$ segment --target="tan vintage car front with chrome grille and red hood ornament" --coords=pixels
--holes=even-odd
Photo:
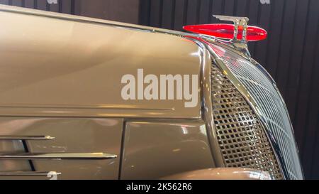
[[[248,18],[178,32],[0,6],[0,178],[302,179]]]

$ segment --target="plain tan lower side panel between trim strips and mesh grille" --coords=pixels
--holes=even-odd
[[[157,179],[213,166],[201,121],[126,123],[121,179]]]

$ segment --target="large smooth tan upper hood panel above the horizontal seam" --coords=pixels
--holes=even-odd
[[[184,99],[121,97],[122,76],[137,76],[138,68],[157,77],[199,75],[191,41],[35,12],[0,7],[0,115],[200,117],[199,102],[186,109]]]

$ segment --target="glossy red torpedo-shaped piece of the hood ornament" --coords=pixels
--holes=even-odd
[[[211,23],[183,26],[185,31],[201,33],[218,38],[233,39],[235,26],[228,23]],[[237,39],[242,39],[242,26],[238,26]],[[247,41],[262,41],[267,38],[267,31],[256,26],[247,26]]]

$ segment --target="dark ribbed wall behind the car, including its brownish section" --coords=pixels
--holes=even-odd
[[[318,0],[0,0],[25,6],[182,30],[186,24],[220,23],[213,14],[247,16],[269,33],[249,43],[252,56],[270,72],[286,100],[306,178],[319,179]]]

